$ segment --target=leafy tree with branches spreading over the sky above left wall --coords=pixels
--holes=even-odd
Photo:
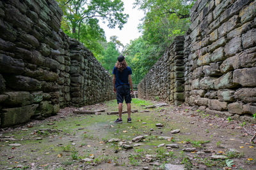
[[[99,25],[103,18],[108,21],[109,28],[116,25],[122,29],[129,17],[124,14],[124,3],[121,0],[57,0],[63,10],[63,29],[73,38],[80,39],[81,26]],[[93,22],[92,22],[92,19]]]

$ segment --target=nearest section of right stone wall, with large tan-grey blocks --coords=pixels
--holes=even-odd
[[[206,113],[253,121],[252,115],[256,113],[255,9],[253,0],[196,1],[184,41],[186,104],[196,105]]]

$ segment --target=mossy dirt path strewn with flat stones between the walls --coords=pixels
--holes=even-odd
[[[0,169],[256,169],[256,146],[241,122],[188,106],[145,108],[153,104],[134,99],[132,110],[138,112],[131,124],[127,114],[123,124],[113,123],[117,116],[106,113],[117,104],[109,101],[81,108],[105,110],[101,115],[74,115],[77,108],[65,108],[42,121],[1,129]],[[172,134],[175,129],[180,132]],[[144,139],[132,142],[136,136]],[[113,138],[118,141],[109,142]]]

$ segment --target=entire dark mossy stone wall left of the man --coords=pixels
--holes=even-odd
[[[111,76],[61,29],[53,0],[0,1],[0,127],[113,99]]]

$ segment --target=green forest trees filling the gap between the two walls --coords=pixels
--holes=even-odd
[[[143,23],[138,25],[142,36],[124,46],[117,36],[111,36],[108,42],[99,24],[101,19],[109,28],[122,29],[129,17],[122,0],[57,0],[64,13],[61,29],[83,43],[110,74],[117,57],[125,55],[135,84],[140,83],[173,38],[188,31],[189,10],[195,1],[136,0],[134,8],[145,13]]]

